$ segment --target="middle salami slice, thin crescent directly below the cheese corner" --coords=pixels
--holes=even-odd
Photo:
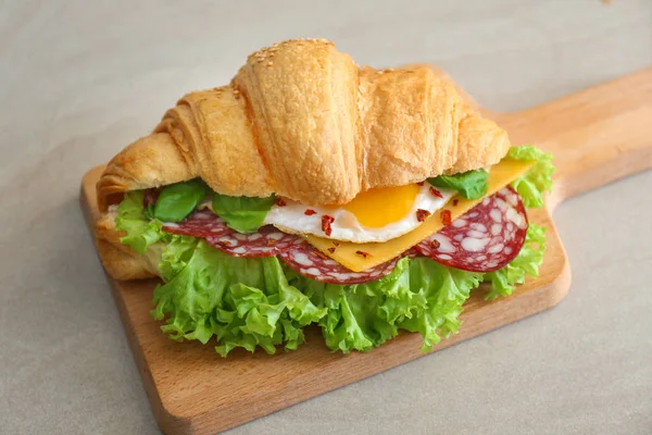
[[[297,273],[308,278],[328,284],[362,284],[389,275],[401,257],[363,272],[353,272],[329,259],[312,245],[302,243],[280,252],[280,258]]]

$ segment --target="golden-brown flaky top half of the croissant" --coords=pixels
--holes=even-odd
[[[201,177],[225,195],[342,204],[492,165],[510,146],[428,66],[359,67],[329,41],[289,40],[251,54],[228,86],[181,98],[109,162],[98,203]]]

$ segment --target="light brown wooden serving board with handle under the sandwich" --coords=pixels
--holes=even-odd
[[[529,212],[549,227],[541,274],[509,298],[482,300],[474,291],[459,334],[441,350],[546,310],[564,298],[570,271],[551,219],[563,199],[652,166],[652,69],[518,113],[482,112],[514,144],[554,153],[557,169],[548,210]],[[92,232],[99,217],[95,184],[101,166],[82,184],[82,204]],[[155,279],[109,279],[152,409],[166,434],[212,434],[423,357],[418,334],[401,334],[368,353],[331,353],[317,328],[297,351],[275,356],[238,349],[221,358],[213,346],[175,343],[149,314]]]

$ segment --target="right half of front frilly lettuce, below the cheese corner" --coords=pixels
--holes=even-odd
[[[292,271],[290,282],[328,312],[319,321],[326,345],[344,353],[368,351],[399,330],[418,332],[427,351],[457,332],[462,304],[482,274],[443,266],[428,258],[401,259],[388,276],[358,285],[318,283]]]

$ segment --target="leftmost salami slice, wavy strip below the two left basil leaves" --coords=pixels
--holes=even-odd
[[[165,223],[163,229],[185,236],[202,237],[213,248],[231,257],[273,257],[303,243],[293,234],[263,226],[255,233],[238,233],[210,210],[195,211],[179,223]]]

